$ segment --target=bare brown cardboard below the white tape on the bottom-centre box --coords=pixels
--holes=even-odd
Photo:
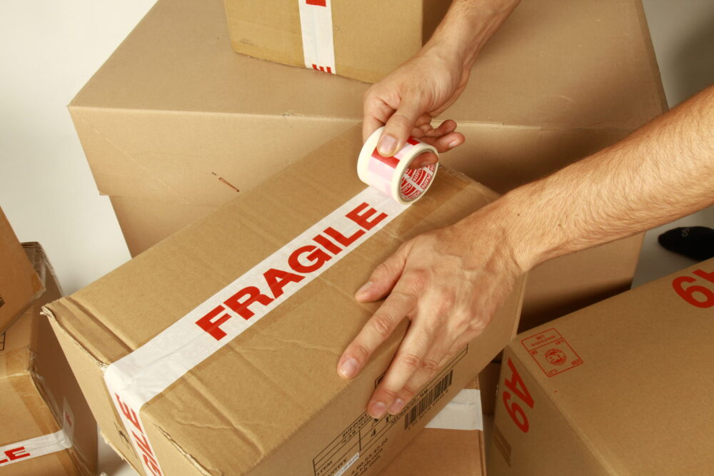
[[[478,381],[466,388],[478,389]],[[424,428],[379,474],[486,476],[483,430]]]

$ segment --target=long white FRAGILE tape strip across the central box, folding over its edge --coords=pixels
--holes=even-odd
[[[146,434],[141,407],[407,208],[374,188],[365,188],[149,342],[106,368],[106,387],[147,474],[163,472]]]

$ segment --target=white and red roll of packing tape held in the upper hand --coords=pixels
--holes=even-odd
[[[377,141],[383,127],[372,133],[362,146],[357,160],[357,175],[368,186],[391,196],[406,205],[421,198],[436,176],[437,164],[422,168],[408,168],[411,161],[426,152],[438,157],[434,146],[410,137],[393,157],[382,157],[377,152]]]

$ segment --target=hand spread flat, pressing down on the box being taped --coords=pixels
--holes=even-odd
[[[487,207],[488,208],[488,207]],[[443,365],[483,332],[523,270],[503,230],[482,208],[464,220],[403,243],[378,265],[356,299],[386,297],[338,363],[353,378],[404,318],[411,320],[367,405],[375,418],[400,412]]]

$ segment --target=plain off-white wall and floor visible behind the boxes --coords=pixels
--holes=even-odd
[[[644,3],[668,101],[675,106],[714,82],[714,1]],[[44,245],[66,293],[129,259],[109,199],[94,186],[66,104],[152,4],[0,4],[0,206],[20,240]],[[682,223],[713,226],[714,208]],[[692,263],[661,250],[658,233],[645,238],[635,285]],[[104,470],[131,474],[106,457]]]

